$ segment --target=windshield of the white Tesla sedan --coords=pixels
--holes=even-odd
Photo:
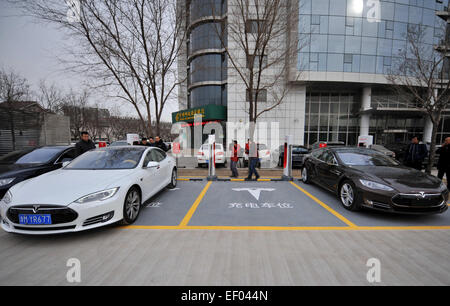
[[[133,169],[139,164],[144,150],[119,149],[89,151],[69,164],[65,169],[111,170]]]

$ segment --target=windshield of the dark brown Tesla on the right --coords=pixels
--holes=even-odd
[[[341,161],[348,166],[398,166],[399,163],[383,154],[374,152],[337,152]]]

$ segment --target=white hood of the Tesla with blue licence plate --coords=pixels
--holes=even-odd
[[[115,186],[132,170],[56,170],[13,186],[13,205],[69,205],[79,198]]]

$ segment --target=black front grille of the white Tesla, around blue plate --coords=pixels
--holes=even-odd
[[[35,205],[15,206],[8,209],[7,217],[11,222],[19,224],[19,215],[51,215],[53,224],[64,224],[73,222],[78,218],[78,214],[68,208],[56,205],[40,205],[35,211]]]

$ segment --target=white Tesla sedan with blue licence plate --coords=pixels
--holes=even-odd
[[[132,224],[142,203],[176,184],[175,160],[158,148],[97,149],[13,186],[0,201],[0,222],[7,232],[33,235]]]

